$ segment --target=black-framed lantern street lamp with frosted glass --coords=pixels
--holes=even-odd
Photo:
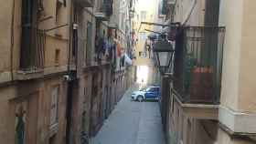
[[[155,64],[162,75],[167,73],[172,65],[174,52],[172,44],[167,40],[166,35],[162,34],[153,46]]]

